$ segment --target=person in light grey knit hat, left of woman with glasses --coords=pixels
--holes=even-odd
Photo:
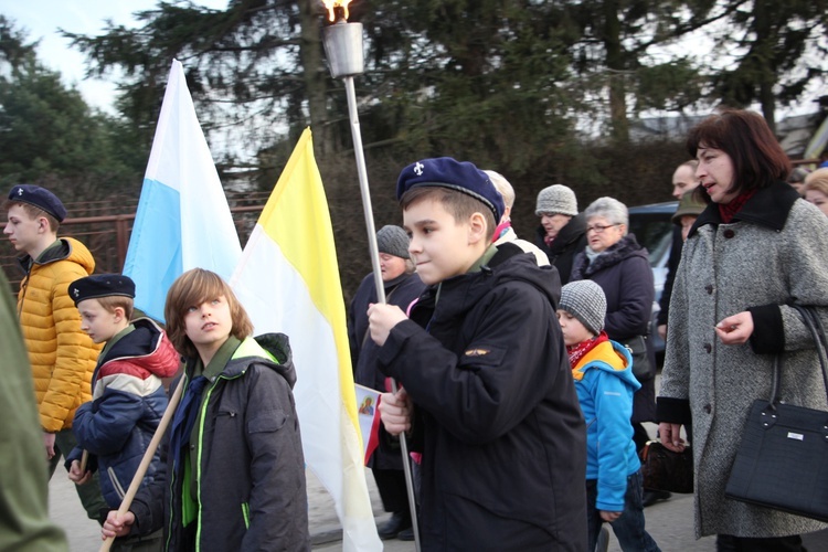
[[[558,268],[561,285],[566,285],[575,255],[586,247],[586,219],[577,213],[575,192],[563,184],[544,188],[538,194],[534,214],[541,217],[534,244]]]

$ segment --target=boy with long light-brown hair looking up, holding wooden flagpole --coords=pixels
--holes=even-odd
[[[172,284],[164,318],[185,385],[167,435],[167,481],[139,491],[124,517],[109,512],[104,537],[163,526],[167,550],[309,550],[287,337],[250,337],[230,286],[202,268]]]

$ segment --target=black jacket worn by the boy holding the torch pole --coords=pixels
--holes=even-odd
[[[560,296],[554,269],[499,246],[438,300],[426,289],[381,348],[416,405],[424,550],[586,549],[585,428]]]

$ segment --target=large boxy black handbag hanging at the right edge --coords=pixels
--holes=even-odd
[[[828,393],[825,331],[810,309],[795,306],[816,344]],[[828,521],[828,412],[778,401],[782,360],[774,364],[769,400],[756,400],[725,496],[797,516]]]

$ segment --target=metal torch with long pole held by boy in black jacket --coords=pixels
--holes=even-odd
[[[360,195],[362,195],[362,211],[365,215],[365,230],[368,232],[368,247],[371,255],[371,265],[374,270],[374,287],[376,288],[376,301],[385,302],[385,286],[382,282],[380,269],[380,251],[376,245],[376,230],[374,226],[373,210],[371,209],[371,190],[368,185],[368,170],[365,169],[365,155],[362,149],[362,134],[360,131],[359,110],[357,109],[357,93],[353,85],[353,75],[362,74],[364,71],[362,52],[362,23],[347,23],[340,19],[323,30],[325,51],[328,54],[330,72],[333,78],[342,77],[348,96],[348,114],[351,123],[351,137],[353,138],[353,155],[357,158],[357,173],[360,182]],[[391,390],[396,393],[396,381],[391,378]],[[403,456],[403,471],[405,473],[405,487],[408,491],[408,508],[411,510],[412,531],[414,532],[414,548],[420,552],[420,527],[417,523],[417,503],[414,497],[414,478],[411,473],[411,457],[408,455],[408,443],[405,432],[400,434],[400,453]]]

